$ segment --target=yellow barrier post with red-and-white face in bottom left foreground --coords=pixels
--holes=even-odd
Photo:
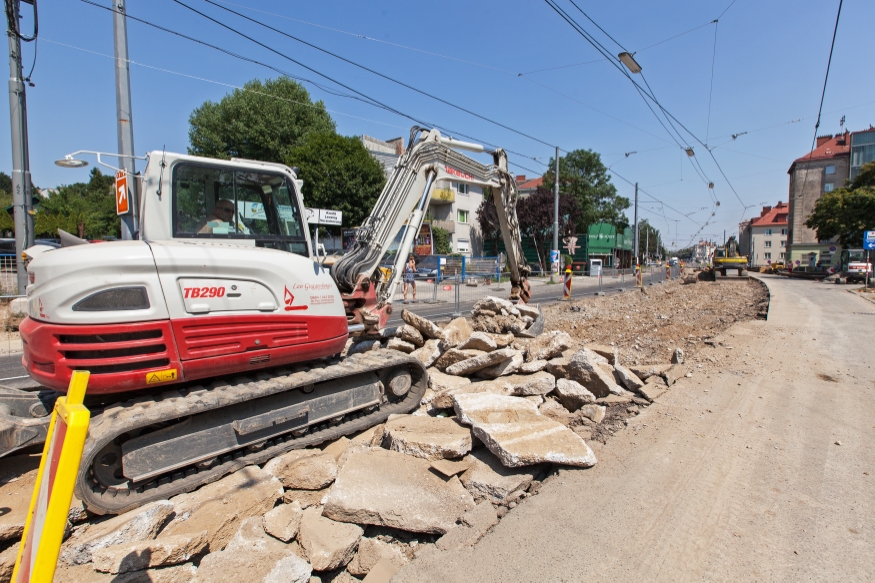
[[[50,583],[55,576],[91,419],[91,412],[82,404],[89,376],[88,371],[75,371],[67,395],[55,402],[12,572],[13,583]]]

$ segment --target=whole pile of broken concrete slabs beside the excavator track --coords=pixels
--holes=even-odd
[[[423,553],[476,543],[554,466],[594,465],[587,441],[685,374],[681,351],[674,364],[626,367],[616,348],[565,332],[519,337],[537,312],[498,298],[442,328],[402,316],[348,353],[420,359],[429,388],[417,411],[121,516],[89,523],[77,506],[57,580],[388,581]]]

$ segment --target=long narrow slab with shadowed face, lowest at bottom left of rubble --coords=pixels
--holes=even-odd
[[[207,542],[204,530],[98,548],[91,552],[91,558],[96,571],[113,574],[142,571],[188,562],[206,550]]]

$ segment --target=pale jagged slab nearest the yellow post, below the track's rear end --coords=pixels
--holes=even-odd
[[[174,503],[157,500],[106,522],[93,525],[83,535],[61,547],[59,560],[67,565],[90,563],[98,549],[129,542],[152,540],[174,511]]]

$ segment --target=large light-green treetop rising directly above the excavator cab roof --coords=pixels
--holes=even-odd
[[[189,117],[189,154],[284,163],[311,133],[333,133],[322,101],[288,77],[254,79],[218,103],[207,101]]]

